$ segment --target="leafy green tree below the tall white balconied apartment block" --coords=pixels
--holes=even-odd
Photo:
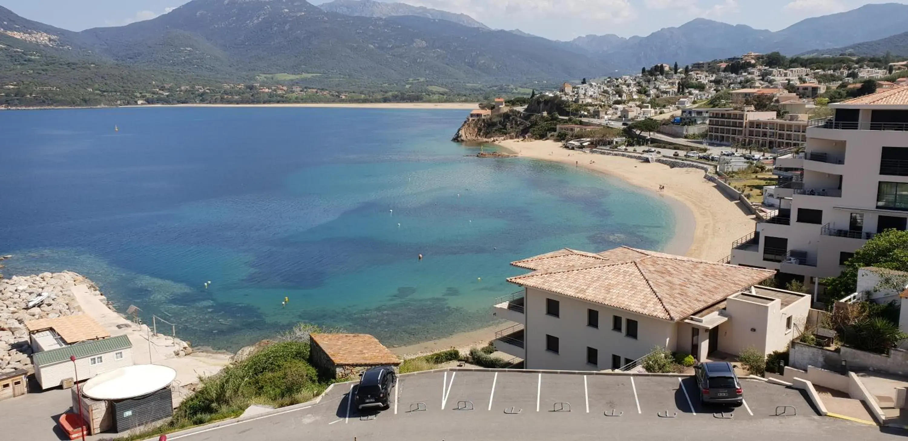
[[[857,273],[864,267],[908,271],[908,231],[885,230],[867,240],[854,256],[845,262],[838,277],[824,279],[826,294],[841,299],[857,289]]]

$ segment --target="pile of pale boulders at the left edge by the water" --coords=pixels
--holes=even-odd
[[[0,279],[0,373],[34,371],[25,322],[80,313],[71,290],[76,284],[85,284],[100,295],[91,280],[70,271]],[[42,296],[43,301],[29,308],[30,301]]]

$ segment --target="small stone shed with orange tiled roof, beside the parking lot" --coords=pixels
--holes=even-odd
[[[335,378],[357,377],[376,366],[397,370],[400,358],[369,334],[311,334],[309,361]]]

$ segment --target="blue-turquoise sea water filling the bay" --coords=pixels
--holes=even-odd
[[[15,257],[0,271],[82,273],[195,346],[298,322],[404,345],[493,323],[492,300],[518,290],[512,260],[660,250],[674,234],[673,211],[622,181],[470,156],[479,147],[449,141],[464,116],[2,112],[0,254]]]

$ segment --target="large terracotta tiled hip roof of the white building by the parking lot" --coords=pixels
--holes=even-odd
[[[590,254],[566,249],[518,260],[535,271],[508,281],[677,321],[775,273],[629,247]]]

